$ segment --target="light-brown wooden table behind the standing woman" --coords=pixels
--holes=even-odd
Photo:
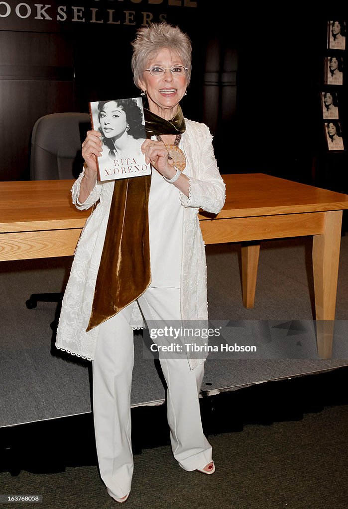
[[[220,214],[199,214],[206,244],[242,242],[243,303],[253,307],[264,239],[313,235],[318,352],[331,356],[341,238],[348,195],[264,174],[224,175]],[[71,204],[73,180],[0,183],[0,261],[70,256],[90,211]]]

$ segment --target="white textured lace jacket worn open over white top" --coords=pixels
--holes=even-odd
[[[182,266],[181,266],[181,316],[183,320],[208,318],[206,260],[204,242],[199,227],[199,208],[218,213],[225,202],[225,184],[219,174],[208,127],[185,119],[186,131],[181,147],[191,168],[190,194],[180,192],[184,209]],[[88,209],[100,202],[87,219],[76,246],[70,277],[65,290],[57,330],[56,346],[72,355],[93,360],[98,327],[86,332],[91,314],[96,277],[103,248],[106,225],[114,189],[114,181],[97,183],[83,204],[78,202],[79,186],[84,173],[74,183],[72,201],[78,209]],[[143,320],[137,302],[133,307],[132,327],[142,328]],[[204,342],[205,343],[205,342]],[[205,355],[201,355],[201,357]],[[202,359],[189,359],[192,369]]]

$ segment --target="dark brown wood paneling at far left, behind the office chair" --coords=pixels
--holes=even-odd
[[[0,47],[0,180],[26,180],[36,120],[73,111],[71,36],[0,32]]]

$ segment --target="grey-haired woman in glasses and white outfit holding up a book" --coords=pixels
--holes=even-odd
[[[100,133],[87,133],[72,198],[79,209],[99,204],[76,248],[57,332],[58,348],[93,361],[99,470],[118,502],[128,498],[133,471],[133,329],[143,318],[157,324],[207,320],[197,213],[200,207],[218,213],[225,200],[209,129],[185,119],[179,105],[191,77],[189,37],[158,23],[142,27],[132,46],[135,83],[146,95],[142,151],[152,175],[99,183]],[[211,474],[215,465],[198,400],[204,359],[159,359],[174,458],[186,471]]]

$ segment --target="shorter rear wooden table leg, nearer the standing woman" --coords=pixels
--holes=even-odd
[[[243,305],[248,309],[254,307],[259,252],[259,243],[242,244]]]

